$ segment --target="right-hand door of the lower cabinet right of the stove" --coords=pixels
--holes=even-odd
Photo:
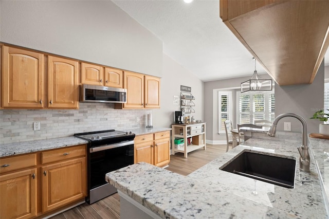
[[[168,165],[170,161],[169,139],[154,142],[154,165],[161,167]]]

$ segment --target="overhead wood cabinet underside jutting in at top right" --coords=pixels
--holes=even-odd
[[[329,45],[329,1],[220,0],[220,17],[279,85],[312,83]]]

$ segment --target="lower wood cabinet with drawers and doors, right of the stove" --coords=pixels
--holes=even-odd
[[[134,163],[167,166],[170,162],[170,131],[136,136],[134,151]]]

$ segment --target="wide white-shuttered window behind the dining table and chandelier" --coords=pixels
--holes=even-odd
[[[241,94],[237,92],[237,124],[254,123],[255,120],[275,118],[274,91],[260,94]]]

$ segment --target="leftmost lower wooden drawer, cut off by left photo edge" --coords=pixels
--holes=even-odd
[[[36,166],[36,153],[0,159],[0,173]]]

